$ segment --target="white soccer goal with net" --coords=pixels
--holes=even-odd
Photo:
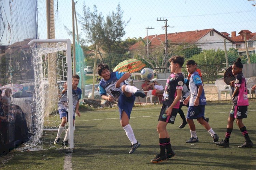
[[[68,86],[69,148],[72,149],[74,131],[70,39],[34,39],[28,44],[33,55],[34,94],[30,138],[24,143],[23,150],[63,148],[61,145],[55,146],[54,140],[60,124],[58,102],[64,82]],[[61,139],[64,136],[62,134]]]

